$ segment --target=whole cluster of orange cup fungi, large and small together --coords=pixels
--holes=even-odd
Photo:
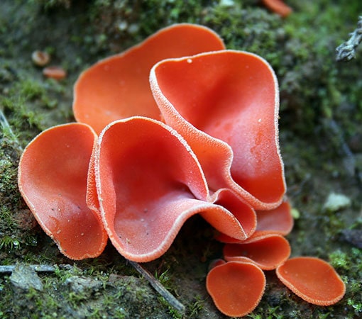
[[[225,243],[207,276],[222,313],[256,308],[271,269],[310,303],[342,298],[329,264],[289,259],[278,82],[268,62],[226,50],[209,28],[177,24],[97,62],[74,94],[77,123],[40,133],[18,169],[23,198],[65,256],[97,257],[109,239],[127,259],[149,262],[199,214]]]

